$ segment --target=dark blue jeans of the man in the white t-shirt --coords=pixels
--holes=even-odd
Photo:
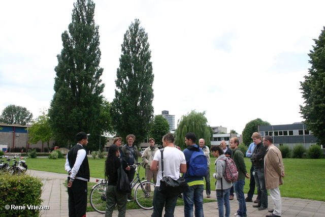
[[[165,217],[174,217],[175,206],[177,202],[178,195],[169,196],[161,194],[159,192],[159,187],[154,188],[153,195],[153,212],[151,217],[161,217],[163,215],[163,209],[165,205]]]

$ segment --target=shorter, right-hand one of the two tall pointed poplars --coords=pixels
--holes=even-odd
[[[148,34],[138,19],[124,34],[120,65],[115,80],[112,102],[113,128],[123,140],[128,134],[136,136],[135,144],[143,142],[149,133],[153,116],[153,74]]]

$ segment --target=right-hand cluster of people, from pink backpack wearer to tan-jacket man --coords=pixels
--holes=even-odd
[[[246,171],[244,161],[245,152],[238,147],[239,139],[235,137],[230,140],[229,146],[232,149],[231,158],[235,162],[238,171],[238,179],[234,183],[226,181],[223,177],[226,169],[225,161],[221,160],[226,159],[226,153],[222,147],[224,141],[221,141],[220,146],[213,146],[211,148],[212,155],[217,158],[215,161],[216,173],[213,174],[213,177],[217,179],[216,192],[220,217],[230,216],[229,200],[231,198],[230,192],[233,187],[239,203],[239,208],[235,215],[237,217],[246,217],[246,202],[252,202],[255,185],[257,189],[257,199],[254,202],[257,204],[253,205],[253,207],[258,210],[268,209],[267,190],[269,190],[274,202],[274,208],[268,210],[271,214],[266,216],[281,216],[281,194],[279,185],[283,184],[282,177],[285,177],[281,151],[273,144],[273,138],[271,136],[265,136],[262,139],[262,136],[255,132],[251,138],[253,139],[253,143],[250,144],[246,152],[246,156],[250,158],[252,163],[250,174]],[[246,198],[244,197],[245,177],[250,178],[249,192]],[[225,213],[223,206],[225,208]]]

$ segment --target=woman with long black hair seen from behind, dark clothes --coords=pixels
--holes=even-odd
[[[108,178],[106,190],[106,217],[111,217],[115,206],[117,205],[118,217],[124,217],[126,212],[127,193],[120,193],[116,190],[117,170],[121,166],[119,158],[119,148],[113,144],[110,146],[105,161],[105,177]],[[122,166],[126,173],[130,170],[125,159],[122,159]]]

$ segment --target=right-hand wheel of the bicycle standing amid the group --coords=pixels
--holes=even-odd
[[[156,185],[151,181],[142,181],[134,191],[137,204],[143,209],[152,209],[153,192]]]

